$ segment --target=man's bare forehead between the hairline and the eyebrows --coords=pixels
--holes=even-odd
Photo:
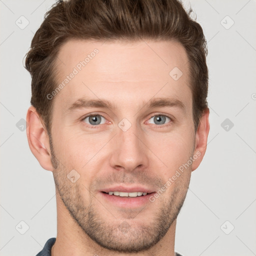
[[[56,101],[64,105],[85,95],[122,104],[156,94],[175,95],[184,101],[191,97],[187,54],[174,40],[72,39],[61,46],[56,67],[57,80],[64,85]]]

